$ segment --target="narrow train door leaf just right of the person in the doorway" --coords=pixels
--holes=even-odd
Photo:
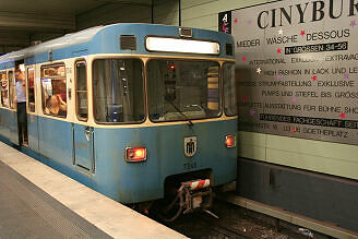
[[[35,67],[26,67],[26,82],[27,82],[27,133],[28,133],[28,147],[39,151],[38,147],[38,117],[36,116],[35,104]]]

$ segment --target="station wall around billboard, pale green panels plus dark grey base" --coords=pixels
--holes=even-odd
[[[181,0],[181,25],[217,31],[219,12],[267,2]],[[239,131],[237,192],[358,231],[357,154],[355,145]]]

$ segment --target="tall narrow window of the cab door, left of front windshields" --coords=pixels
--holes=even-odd
[[[77,61],[75,63],[75,93],[76,93],[76,113],[79,120],[87,121],[88,104],[87,104],[87,74],[86,62]]]

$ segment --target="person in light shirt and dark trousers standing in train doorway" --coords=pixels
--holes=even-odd
[[[19,143],[20,145],[22,144],[27,145],[26,82],[25,82],[25,74],[20,69],[16,69],[15,80],[16,80]]]

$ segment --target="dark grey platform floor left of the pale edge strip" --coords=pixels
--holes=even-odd
[[[0,238],[110,238],[0,162]]]

